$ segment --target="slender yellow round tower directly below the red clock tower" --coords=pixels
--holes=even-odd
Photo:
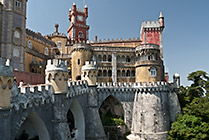
[[[82,66],[86,61],[92,60],[91,46],[85,43],[74,44],[71,57],[72,81],[81,80]]]

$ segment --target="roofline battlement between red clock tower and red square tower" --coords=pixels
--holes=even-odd
[[[95,39],[95,41],[91,40],[90,43],[121,43],[121,42],[122,43],[129,43],[129,42],[139,42],[139,41],[141,41],[139,37],[137,37],[137,38],[134,37],[134,38],[129,38],[129,39],[127,39],[127,38],[109,39],[108,38],[107,40],[106,39],[103,39],[103,40],[99,39],[99,41],[97,41],[97,39]]]

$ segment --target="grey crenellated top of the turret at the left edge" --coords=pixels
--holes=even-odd
[[[13,77],[12,61],[0,58],[0,75]]]

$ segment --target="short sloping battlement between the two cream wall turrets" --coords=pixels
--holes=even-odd
[[[87,94],[89,92],[87,81],[71,81],[68,82],[68,93],[66,96],[68,98],[76,97],[82,94]]]

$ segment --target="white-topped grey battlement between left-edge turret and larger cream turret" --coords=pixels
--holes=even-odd
[[[54,103],[53,88],[51,85],[24,86],[12,89],[11,107],[15,110],[37,107]]]

